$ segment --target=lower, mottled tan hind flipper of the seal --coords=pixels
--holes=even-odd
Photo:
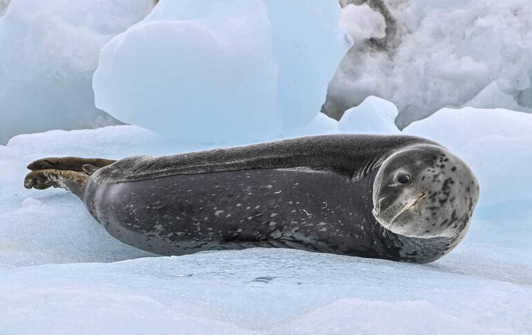
[[[81,196],[82,187],[87,183],[88,175],[84,172],[45,169],[26,174],[24,187],[46,190],[48,187],[60,187]]]

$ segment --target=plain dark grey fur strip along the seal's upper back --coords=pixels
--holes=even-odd
[[[178,174],[289,167],[309,167],[357,179],[378,169],[393,152],[421,143],[439,145],[415,136],[307,136],[169,156],[133,156],[98,170],[91,179],[123,183]]]

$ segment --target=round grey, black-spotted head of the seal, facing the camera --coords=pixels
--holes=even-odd
[[[462,159],[437,145],[413,145],[383,161],[372,213],[395,234],[457,238],[465,234],[478,196],[477,178]]]

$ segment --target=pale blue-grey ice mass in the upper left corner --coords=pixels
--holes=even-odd
[[[0,143],[15,134],[117,123],[94,105],[99,50],[151,6],[151,0],[12,0],[0,19]]]

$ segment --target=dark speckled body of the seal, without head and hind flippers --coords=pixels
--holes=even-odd
[[[372,214],[381,163],[410,136],[312,136],[245,147],[137,156],[97,170],[80,195],[120,241],[156,254],[294,247],[433,261],[455,238],[394,234]]]

